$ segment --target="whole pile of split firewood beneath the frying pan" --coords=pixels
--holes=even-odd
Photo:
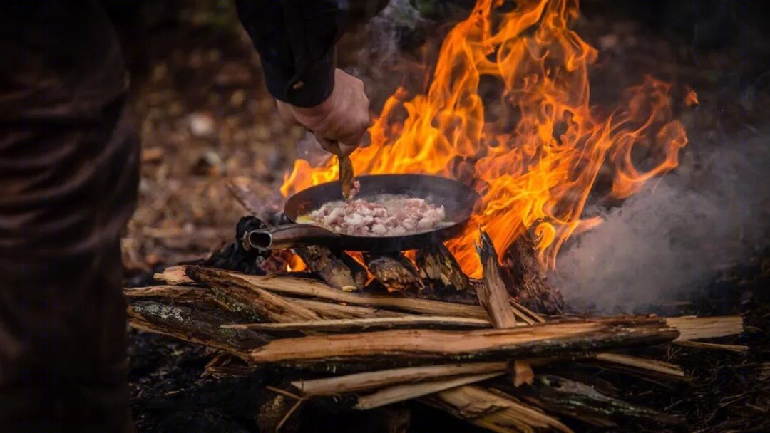
[[[534,308],[552,311],[559,297],[545,293],[526,270],[514,275],[500,267],[483,233],[477,250],[484,265],[480,280],[467,278],[443,245],[418,251],[417,265],[403,255],[365,256],[360,263],[311,247],[297,253],[313,274],[246,275],[182,265],[156,275],[162,285],[125,293],[133,327],[219,351],[210,375],[282,371],[283,385],[264,390],[260,431],[292,431],[310,402],[376,409],[371,413],[380,417],[384,410],[390,415],[383,422],[397,422],[403,409],[389,405],[419,401],[498,432],[569,432],[575,421],[675,425],[680,418],[604,394],[566,373],[571,365],[588,364],[688,381],[677,365],[639,351],[660,345],[742,350],[695,341],[741,333],[738,316],[538,314]],[[510,256],[507,251],[504,264],[525,262]],[[367,270],[381,290],[367,288]]]

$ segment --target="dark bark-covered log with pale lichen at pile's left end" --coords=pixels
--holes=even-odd
[[[134,301],[129,306],[129,325],[133,328],[218,348],[247,359],[244,348],[261,345],[269,338],[254,331],[220,328],[234,320],[226,311],[209,308],[163,305],[156,301]]]

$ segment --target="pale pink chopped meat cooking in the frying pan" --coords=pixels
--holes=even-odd
[[[444,222],[444,206],[405,195],[330,202],[301,219],[355,236],[398,236],[430,231]]]

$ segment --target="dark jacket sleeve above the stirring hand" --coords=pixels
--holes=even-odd
[[[299,107],[318,105],[334,87],[334,45],[343,33],[343,0],[236,0],[240,21],[262,62],[267,90]]]

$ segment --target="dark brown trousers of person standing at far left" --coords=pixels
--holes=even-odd
[[[133,431],[119,237],[139,145],[88,0],[0,5],[0,431]]]

